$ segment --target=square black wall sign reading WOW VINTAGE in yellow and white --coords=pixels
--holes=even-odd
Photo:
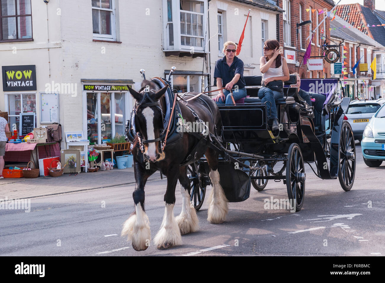
[[[36,90],[35,65],[2,66],[3,91]]]

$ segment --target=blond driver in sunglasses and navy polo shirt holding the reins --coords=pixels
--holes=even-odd
[[[223,44],[224,56],[215,64],[214,79],[216,79],[219,94],[214,98],[217,104],[232,104],[230,90],[233,90],[234,100],[246,97],[245,81],[243,78],[243,62],[235,56],[236,46],[232,41]]]

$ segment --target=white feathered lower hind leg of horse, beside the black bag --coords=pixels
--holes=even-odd
[[[219,172],[218,169],[213,171],[210,169],[210,179],[213,184],[209,196],[209,209],[207,220],[210,223],[219,224],[226,220],[226,214],[228,211],[228,200],[224,194],[221,184],[219,184]]]

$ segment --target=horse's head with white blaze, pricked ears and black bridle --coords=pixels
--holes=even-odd
[[[159,90],[157,85],[143,80],[141,89],[136,92],[129,88],[137,100],[135,128],[145,159],[155,162],[162,154],[163,111],[159,99],[164,95],[168,85]]]

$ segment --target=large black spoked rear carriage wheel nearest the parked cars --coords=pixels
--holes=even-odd
[[[356,146],[352,127],[348,121],[343,121],[340,135],[340,162],[338,164],[338,179],[344,191],[350,191],[356,172]]]

